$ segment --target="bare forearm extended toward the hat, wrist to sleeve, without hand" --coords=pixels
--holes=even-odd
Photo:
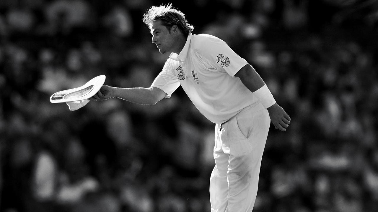
[[[137,104],[156,104],[160,100],[155,97],[152,88],[111,88],[113,97]]]

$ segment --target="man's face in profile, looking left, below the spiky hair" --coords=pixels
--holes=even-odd
[[[172,28],[171,28],[172,29]],[[166,26],[162,25],[161,20],[153,22],[151,27],[152,43],[156,44],[161,54],[166,52],[172,52],[174,46],[174,35],[170,33],[170,30]]]

